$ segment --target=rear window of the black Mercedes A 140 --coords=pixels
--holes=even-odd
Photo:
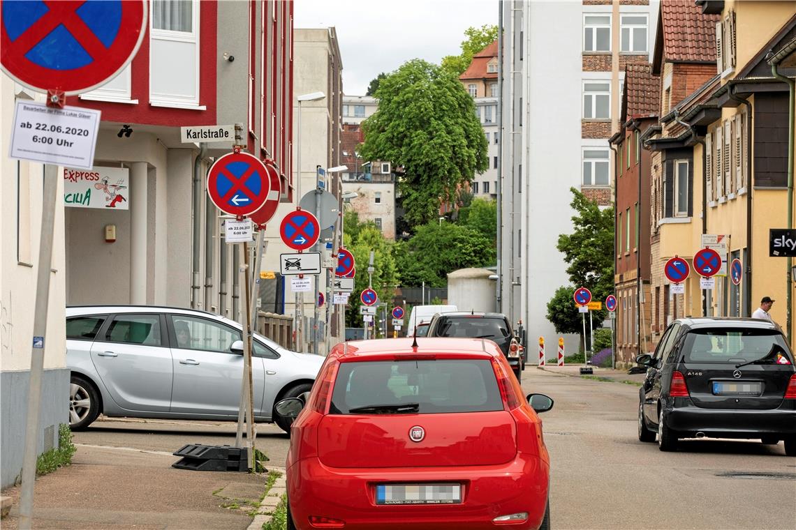
[[[738,362],[755,361],[771,353],[777,353],[793,362],[785,338],[775,330],[707,328],[689,331],[683,343],[685,362]]]

